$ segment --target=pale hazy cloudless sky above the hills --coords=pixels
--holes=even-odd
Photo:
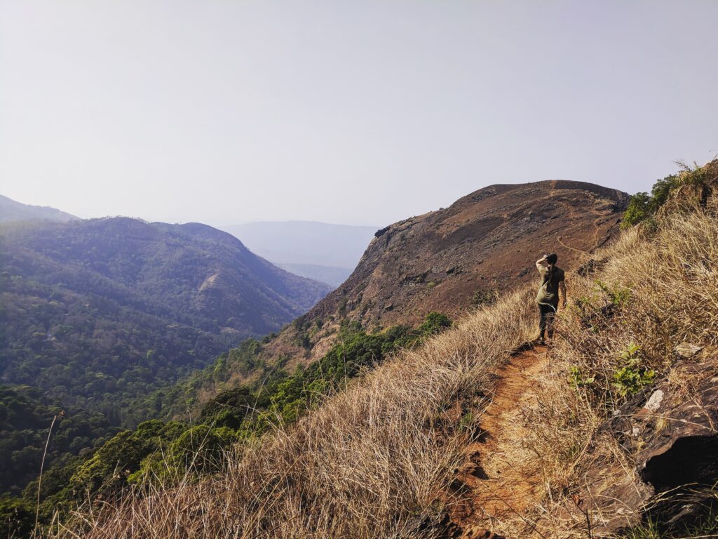
[[[0,193],[384,225],[718,152],[718,0],[0,0]]]

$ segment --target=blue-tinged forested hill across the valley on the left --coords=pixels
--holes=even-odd
[[[131,218],[4,224],[0,279],[0,382],[126,425],[134,397],[327,293],[210,226]]]

